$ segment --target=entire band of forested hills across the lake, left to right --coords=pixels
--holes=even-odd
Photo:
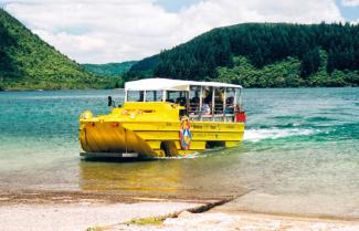
[[[140,62],[80,65],[0,9],[0,90],[104,88],[152,76],[245,87],[359,86],[359,25],[245,23]]]

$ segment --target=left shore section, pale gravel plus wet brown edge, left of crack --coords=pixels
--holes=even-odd
[[[0,191],[0,230],[86,230],[136,218],[168,216],[202,204],[194,200],[171,201],[105,192]]]

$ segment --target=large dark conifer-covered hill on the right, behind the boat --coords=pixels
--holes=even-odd
[[[359,25],[245,23],[218,28],[136,63],[127,80],[171,76],[246,87],[358,86]]]

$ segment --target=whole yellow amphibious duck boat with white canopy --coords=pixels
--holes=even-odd
[[[84,157],[184,156],[243,138],[241,86],[217,82],[147,78],[125,84],[123,106],[80,117]]]

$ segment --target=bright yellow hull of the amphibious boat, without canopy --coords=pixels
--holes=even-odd
[[[134,117],[122,112],[116,108],[107,116],[81,119],[80,141],[87,157],[98,153],[137,154],[140,158],[181,156],[203,151],[213,144],[233,147],[243,139],[244,123],[191,122],[192,139],[184,150],[178,117]]]

